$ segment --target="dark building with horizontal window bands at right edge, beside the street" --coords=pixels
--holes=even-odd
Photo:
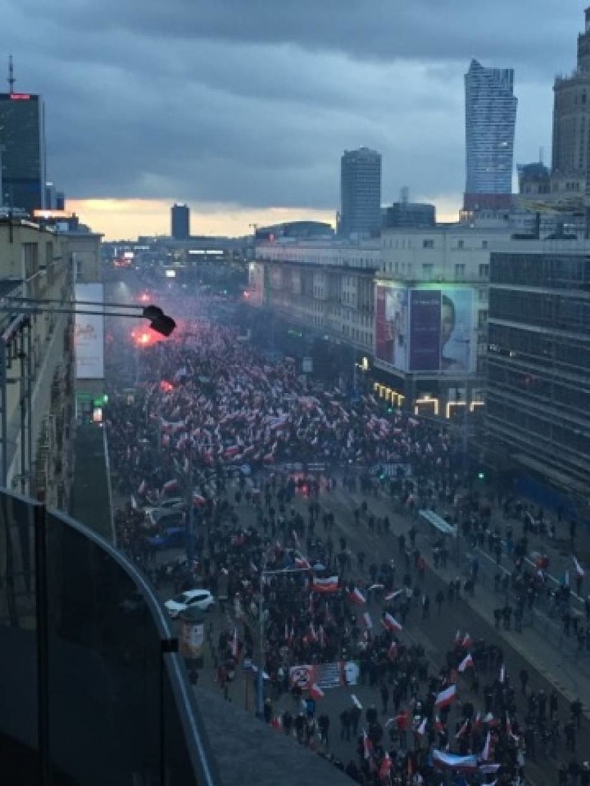
[[[590,246],[492,254],[486,421],[522,465],[590,483]]]

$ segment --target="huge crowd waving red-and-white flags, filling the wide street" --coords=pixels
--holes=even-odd
[[[337,388],[311,391],[291,362],[269,365],[234,331],[206,321],[150,347],[142,363],[149,381],[132,400],[113,396],[107,415],[117,490],[134,498],[117,512],[118,540],[155,581],[181,590],[198,578],[226,599],[228,622],[216,642],[219,685],[238,660],[260,658],[262,612],[264,718],[360,784],[438,784],[442,768],[469,782],[520,786],[527,759],[558,744],[575,753],[581,707],[574,703],[562,722],[557,697],[530,691],[523,673],[506,674],[500,648],[449,631],[444,666],[433,670],[422,648],[404,638],[408,617],[430,615],[415,527],[407,538],[400,534],[396,564],[385,555],[370,560],[321,504],[337,483],[364,492],[351,512],[356,523],[389,535],[388,516],[371,513],[371,493],[387,483],[408,515],[450,503],[449,520],[486,545],[489,510],[461,496],[461,446],[444,428],[387,414],[366,391],[352,401]],[[321,480],[305,472],[312,462],[322,463]],[[378,469],[384,465],[396,468],[387,480]],[[155,560],[161,525],[142,511],[186,496],[186,478],[198,525],[195,558],[169,569]],[[494,553],[493,532],[487,545]],[[514,544],[517,556],[520,548]],[[447,556],[437,542],[433,560]],[[523,571],[512,582],[523,605],[539,589],[538,577]],[[469,581],[433,597],[438,613],[463,591]],[[293,667],[348,662],[358,664],[358,674],[349,681],[342,668],[346,706],[330,718],[321,711],[323,690],[303,688]],[[374,689],[380,707],[361,706],[357,680]],[[292,706],[278,710],[285,696]],[[350,742],[352,754],[356,748],[348,763],[330,753],[335,735]],[[589,776],[585,764],[573,762],[560,784],[585,786]]]

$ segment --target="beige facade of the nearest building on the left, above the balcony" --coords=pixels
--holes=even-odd
[[[11,229],[8,221],[0,222],[0,277],[14,281],[20,295],[28,298],[71,300],[72,265],[65,237],[28,223],[13,221]],[[7,485],[67,509],[72,481],[73,317],[46,307],[32,315],[4,311],[0,320],[7,337],[0,346],[2,351],[6,345],[7,358],[6,412],[0,411],[0,419],[6,416]],[[19,351],[24,354],[22,366]]]

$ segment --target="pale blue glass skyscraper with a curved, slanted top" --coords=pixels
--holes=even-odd
[[[511,206],[516,105],[512,68],[472,60],[465,75],[465,210]]]

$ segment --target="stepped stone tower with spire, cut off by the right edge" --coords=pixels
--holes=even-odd
[[[590,166],[590,8],[577,37],[576,69],[555,79],[553,93],[551,193],[582,200]]]

